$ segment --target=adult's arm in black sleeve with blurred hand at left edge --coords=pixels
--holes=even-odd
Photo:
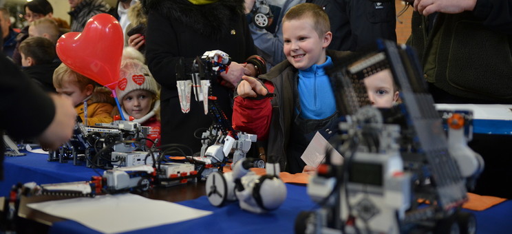
[[[55,149],[71,138],[76,111],[67,96],[47,94],[6,56],[0,58],[0,129]]]

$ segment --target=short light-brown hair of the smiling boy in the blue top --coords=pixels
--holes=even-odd
[[[290,8],[284,15],[283,23],[306,17],[312,20],[312,25],[314,25],[314,30],[317,31],[318,36],[322,37],[326,32],[330,31],[330,22],[326,11],[313,3],[301,3]]]

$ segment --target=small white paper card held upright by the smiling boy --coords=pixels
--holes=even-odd
[[[307,165],[318,167],[324,160],[326,160],[326,149],[333,149],[332,145],[317,131],[314,134],[308,147],[302,153],[301,159]],[[331,161],[333,164],[341,165],[343,163],[343,156],[337,150],[331,150]]]

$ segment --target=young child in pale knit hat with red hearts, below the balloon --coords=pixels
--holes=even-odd
[[[125,47],[122,53],[120,80],[116,86],[122,114],[133,116],[136,123],[151,127],[148,138],[160,145],[160,88],[144,64],[144,56],[134,47]],[[116,108],[113,115],[119,113]],[[148,146],[151,147],[151,145]]]

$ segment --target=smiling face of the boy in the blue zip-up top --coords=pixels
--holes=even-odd
[[[331,38],[331,32],[319,37],[308,17],[283,23],[284,54],[299,70],[306,70],[314,64],[325,63],[326,47]]]

